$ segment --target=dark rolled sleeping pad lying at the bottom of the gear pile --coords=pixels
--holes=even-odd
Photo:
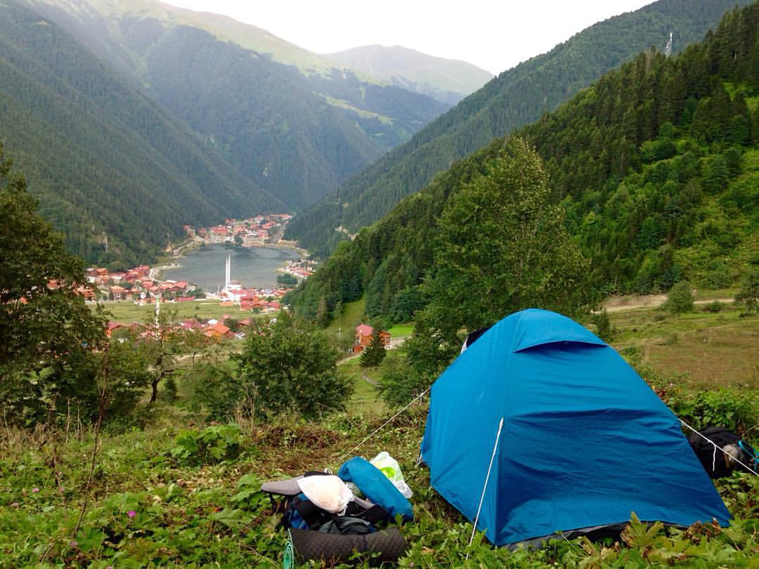
[[[293,555],[289,567],[285,569],[294,567],[294,563],[300,564],[312,559],[337,564],[350,560],[356,552],[379,554],[373,557],[367,555],[372,565],[395,563],[406,552],[406,540],[397,527],[363,536],[339,536],[313,530],[298,530],[294,527],[291,527],[288,533]],[[286,554],[285,550],[285,556]]]

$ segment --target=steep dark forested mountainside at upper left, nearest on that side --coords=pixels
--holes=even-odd
[[[89,262],[150,260],[229,212],[284,209],[68,33],[0,2],[0,139]]]

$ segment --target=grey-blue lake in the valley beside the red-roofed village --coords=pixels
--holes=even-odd
[[[276,247],[247,247],[242,252],[227,249],[223,245],[212,245],[192,250],[176,262],[177,269],[164,269],[163,277],[172,281],[187,281],[198,285],[206,292],[216,292],[224,288],[224,271],[227,255],[231,257],[231,278],[239,281],[244,288],[275,288],[277,269],[285,266],[290,259],[300,255],[291,249]]]

